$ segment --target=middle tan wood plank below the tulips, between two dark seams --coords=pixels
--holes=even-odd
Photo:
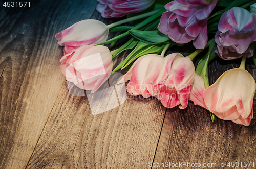
[[[166,108],[127,100],[92,115],[86,96],[61,89],[28,168],[143,168],[153,160]]]

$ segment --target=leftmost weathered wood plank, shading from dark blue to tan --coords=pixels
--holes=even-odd
[[[40,1],[23,13],[1,15],[0,168],[26,167],[65,82],[54,34],[90,18],[96,3]]]

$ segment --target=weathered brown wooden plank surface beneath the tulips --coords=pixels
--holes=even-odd
[[[219,119],[213,124],[207,110],[193,102],[184,110],[167,109],[154,98],[132,96],[93,116],[87,96],[69,94],[54,35],[83,19],[118,20],[103,19],[96,4],[40,1],[16,15],[1,11],[0,168],[151,168],[148,162],[183,161],[216,163],[215,168],[232,161],[256,165],[255,119],[249,127]],[[194,50],[189,43],[169,53],[186,56]],[[114,67],[125,55],[113,60]],[[210,84],[239,62],[212,61]],[[247,63],[255,78],[251,59]]]

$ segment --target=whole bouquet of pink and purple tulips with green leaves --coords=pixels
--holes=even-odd
[[[217,116],[250,125],[256,83],[245,70],[245,60],[253,57],[256,63],[255,0],[165,0],[164,5],[154,0],[98,1],[96,9],[102,17],[130,17],[110,25],[82,20],[55,35],[64,46],[60,62],[68,81],[94,93],[111,73],[130,67],[123,79],[129,81],[126,90],[131,95],[153,96],[167,108],[179,105],[184,109],[191,100],[209,110],[212,122]],[[132,24],[123,26],[126,22]],[[109,32],[117,34],[107,40]],[[123,45],[110,51],[121,38],[126,40]],[[165,56],[169,47],[190,41],[194,53]],[[192,60],[205,49],[195,68]],[[125,50],[130,50],[129,55],[113,68],[112,60]],[[102,61],[91,57],[98,54]],[[209,86],[208,63],[217,56],[224,60],[242,57],[241,65]],[[77,79],[82,83],[76,83]]]

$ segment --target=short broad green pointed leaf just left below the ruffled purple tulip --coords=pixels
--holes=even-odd
[[[130,30],[129,32],[133,37],[145,43],[158,44],[158,43],[163,43],[170,40],[170,38],[167,35],[164,35],[158,30],[157,31]]]

